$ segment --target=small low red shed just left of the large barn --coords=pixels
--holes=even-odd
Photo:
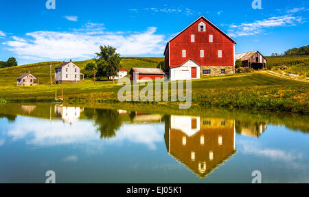
[[[130,70],[131,81],[150,81],[162,79],[165,73],[160,68],[132,68]]]

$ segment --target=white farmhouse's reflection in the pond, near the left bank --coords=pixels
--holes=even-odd
[[[61,117],[63,122],[69,122],[72,124],[80,118],[80,113],[84,111],[80,107],[65,107],[62,105],[55,105],[56,107],[56,116]]]

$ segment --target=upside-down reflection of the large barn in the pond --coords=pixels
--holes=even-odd
[[[168,153],[202,179],[236,153],[233,120],[167,116],[165,121]]]

